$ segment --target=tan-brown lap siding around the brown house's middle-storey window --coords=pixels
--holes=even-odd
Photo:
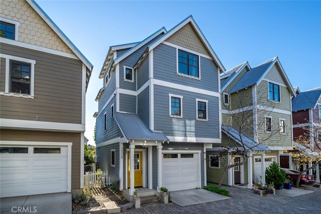
[[[1,53],[36,61],[34,99],[1,95],[1,118],[81,124],[80,60],[6,44],[1,45]],[[4,69],[1,63],[1,74]],[[3,89],[4,82],[0,83]]]

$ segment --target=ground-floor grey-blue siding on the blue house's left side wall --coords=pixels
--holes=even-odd
[[[115,149],[115,167],[110,165],[111,149]],[[119,143],[98,147],[97,158],[99,168],[104,172],[108,172],[111,184],[114,185],[116,189],[119,189]]]

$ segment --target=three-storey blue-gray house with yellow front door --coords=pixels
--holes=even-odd
[[[206,185],[204,153],[221,143],[223,71],[192,16],[109,48],[94,116],[99,167],[116,188]]]

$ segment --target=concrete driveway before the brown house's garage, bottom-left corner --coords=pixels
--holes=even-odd
[[[71,213],[71,193],[5,197],[0,200],[0,213]]]

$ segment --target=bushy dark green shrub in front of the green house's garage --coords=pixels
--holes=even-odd
[[[265,181],[267,184],[274,183],[275,188],[283,186],[286,180],[285,171],[280,169],[280,165],[273,161],[265,170]]]

